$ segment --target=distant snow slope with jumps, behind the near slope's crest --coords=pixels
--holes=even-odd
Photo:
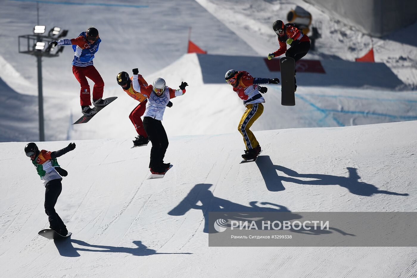
[[[192,27],[191,40],[210,54],[206,61],[229,57],[225,61],[230,67],[248,65],[241,68],[257,76],[264,72],[248,63],[257,61],[264,67],[262,58],[278,47],[270,25],[276,18],[285,18],[295,5],[312,13],[313,25],[322,33],[317,51],[311,51],[306,58],[319,59],[329,68],[326,75],[297,74],[299,87],[294,108],[280,106],[280,86],[268,86],[267,107],[254,130],[374,124],[414,120],[417,116],[416,95],[407,91],[417,83],[417,47],[407,35],[416,30],[415,24],[374,40],[376,61],[387,65],[381,66],[353,63],[354,58],[369,50],[370,38],[301,0],[141,1],[140,5],[133,0],[124,1],[123,5],[107,0],[80,0],[72,5],[65,1],[44,1],[39,5],[40,23],[47,28],[58,25],[69,29],[68,37],[77,36],[91,24],[99,29],[103,43],[94,63],[106,84],[104,96],[119,97],[106,108],[111,109],[107,114],[101,112],[87,126],[71,126],[80,116],[79,85],[70,66],[73,51],[66,46],[58,58],[43,59],[47,140],[133,139],[136,132],[128,114],[137,103],[120,89],[115,76],[120,71],[130,73],[136,67],[149,83],[163,77],[173,88],[181,81],[190,85],[186,95],[175,99],[173,108],[167,109],[164,125],[169,134],[234,132],[244,107],[227,84],[206,83],[208,76],[221,80],[225,71],[219,70],[219,65],[208,66],[195,54],[184,55],[188,28]],[[35,7],[32,0],[0,2],[0,24],[5,26],[0,34],[5,45],[0,48],[0,77],[13,91],[32,96],[37,94],[35,58],[18,54],[15,48],[16,36],[30,33],[36,23]],[[89,11],[88,20],[85,10]],[[17,111],[12,107],[0,102],[0,110],[5,112],[0,128],[8,129],[6,123],[12,122],[8,115]],[[15,135],[0,136],[0,141],[37,140],[38,116],[35,110],[32,112],[35,113],[19,115],[22,124],[14,124]],[[26,126],[33,130],[28,131]]]

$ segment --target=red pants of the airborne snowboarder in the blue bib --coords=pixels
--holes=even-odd
[[[88,85],[87,78],[90,78],[94,82],[93,87],[93,100],[98,100],[103,97],[104,81],[101,78],[100,73],[94,66],[77,67],[73,66],[73,73],[78,82],[80,82],[80,103],[81,106],[91,105],[90,99],[90,85]]]

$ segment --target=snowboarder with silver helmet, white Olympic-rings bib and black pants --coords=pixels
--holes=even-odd
[[[179,90],[174,90],[166,86],[163,78],[156,78],[152,85],[141,85],[139,83],[139,71],[133,70],[133,89],[141,92],[148,98],[146,103],[145,116],[143,117],[143,127],[149,140],[152,143],[149,170],[152,174],[164,174],[169,169],[169,163],[163,163],[166,149],[168,148],[168,137],[162,125],[162,117],[168,101],[176,96],[185,94],[187,82],[181,82]]]

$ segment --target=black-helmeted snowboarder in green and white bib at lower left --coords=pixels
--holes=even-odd
[[[48,152],[44,149],[39,151],[35,143],[25,146],[26,156],[30,157],[45,186],[45,212],[48,215],[50,228],[62,236],[66,236],[68,230],[56,213],[55,204],[62,191],[62,177],[66,177],[68,172],[59,166],[56,158],[73,149],[75,149],[75,143],[70,143],[67,147],[55,152]]]

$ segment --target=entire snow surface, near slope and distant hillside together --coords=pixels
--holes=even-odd
[[[271,23],[296,5],[322,34],[305,59],[320,60],[326,73],[297,73],[296,106],[281,106],[281,86],[266,85],[264,114],[251,129],[263,152],[240,164],[244,106],[224,73],[279,77],[264,62],[278,48]],[[77,147],[58,159],[69,174],[55,207],[73,235],[60,242],[38,236],[49,226],[44,188],[23,153],[38,141],[36,60],[16,50],[17,36],[36,24],[36,4],[1,1],[1,277],[417,276],[415,247],[209,248],[206,233],[209,211],[415,212],[416,24],[374,39],[377,63],[361,64],[354,58],[369,51],[371,39],[302,0],[39,7],[40,24],[68,29],[68,38],[98,28],[103,42],[94,65],[104,97],[118,99],[88,124],[71,126],[81,116],[73,51],[66,46],[58,58],[43,59],[50,142],[38,146]],[[185,54],[189,27],[208,55]],[[165,162],[174,166],[163,179],[146,179],[151,144],[130,149],[136,132],[128,115],[138,102],[115,79],[136,67],[148,83],[189,84],[164,115]]]

